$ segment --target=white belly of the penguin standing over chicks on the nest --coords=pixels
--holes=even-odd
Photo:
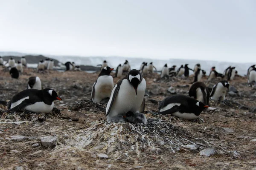
[[[115,90],[115,88],[116,86],[113,88],[113,91]],[[124,79],[116,95],[116,99],[113,102],[111,111],[107,116],[108,121],[111,121],[111,118],[113,116],[116,116],[118,114],[123,114],[128,111],[139,112],[140,105],[142,104],[144,99],[145,90],[146,90],[145,79],[143,79],[138,86],[137,96],[133,86],[128,82],[128,79]],[[111,95],[113,95],[113,91]],[[106,109],[107,112],[110,109],[109,107],[110,107],[111,100],[112,100],[112,96],[107,105],[107,109]]]

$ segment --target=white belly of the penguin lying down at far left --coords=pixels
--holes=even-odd
[[[27,111],[36,112],[36,113],[49,113],[52,111],[54,103],[52,105],[47,105],[44,102],[36,102],[33,105],[28,105],[25,107]]]

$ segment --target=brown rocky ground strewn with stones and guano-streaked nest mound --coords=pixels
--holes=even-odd
[[[210,102],[200,118],[188,121],[157,115],[148,99],[163,100],[188,94],[189,79],[145,77],[148,123],[108,123],[90,101],[98,73],[25,69],[12,79],[0,68],[0,100],[26,89],[28,78],[39,76],[44,88],[54,89],[49,114],[8,113],[0,105],[1,169],[248,169],[256,167],[256,88],[244,77],[230,84],[236,90],[224,102]],[[118,81],[114,78],[114,83]],[[215,82],[207,82],[212,87]]]

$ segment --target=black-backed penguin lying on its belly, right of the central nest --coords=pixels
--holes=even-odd
[[[171,114],[182,119],[197,119],[200,113],[208,108],[203,102],[185,95],[174,95],[166,97],[158,105],[160,114]]]

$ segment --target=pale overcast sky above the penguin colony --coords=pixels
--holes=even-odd
[[[256,62],[256,0],[0,0],[0,51]]]

